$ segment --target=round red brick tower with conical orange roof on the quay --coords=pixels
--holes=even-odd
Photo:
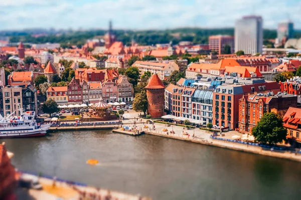
[[[152,117],[164,115],[164,90],[165,86],[159,76],[154,73],[146,85],[147,111]]]

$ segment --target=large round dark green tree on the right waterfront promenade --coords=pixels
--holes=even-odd
[[[269,144],[276,144],[285,140],[286,133],[282,117],[274,112],[264,113],[257,125],[252,129],[252,134],[256,141]]]

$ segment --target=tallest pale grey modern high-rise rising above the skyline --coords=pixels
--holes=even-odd
[[[263,28],[261,16],[243,16],[235,21],[235,51],[262,53]]]

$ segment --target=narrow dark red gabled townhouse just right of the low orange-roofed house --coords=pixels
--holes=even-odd
[[[79,84],[79,80],[72,78],[70,83],[67,85],[67,91],[68,91],[68,103],[82,103],[82,88]]]

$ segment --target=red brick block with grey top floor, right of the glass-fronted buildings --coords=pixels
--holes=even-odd
[[[230,79],[231,80],[231,79]],[[263,79],[238,79],[238,82],[224,83],[213,92],[213,124],[238,128],[239,99],[248,93],[280,91],[277,82]]]

